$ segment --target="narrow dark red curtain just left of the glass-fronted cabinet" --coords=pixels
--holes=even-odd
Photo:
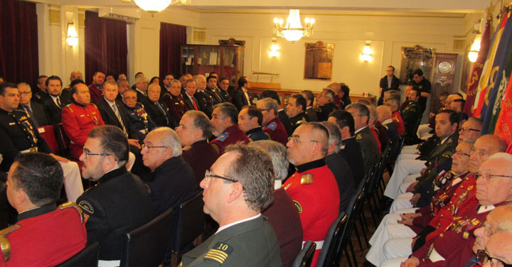
[[[179,79],[180,45],[186,45],[186,26],[160,23],[160,77],[172,73]]]

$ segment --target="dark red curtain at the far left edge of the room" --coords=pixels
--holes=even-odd
[[[0,75],[31,84],[39,75],[36,4],[0,0]]]

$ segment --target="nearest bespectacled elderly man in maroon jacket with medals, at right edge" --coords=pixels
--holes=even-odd
[[[476,180],[479,205],[457,214],[445,231],[427,239],[404,266],[464,266],[473,256],[474,230],[484,225],[491,210],[512,201],[511,165],[512,155],[506,153],[496,153],[484,161]]]

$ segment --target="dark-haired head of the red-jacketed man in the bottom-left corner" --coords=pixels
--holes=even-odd
[[[23,189],[33,205],[57,202],[63,185],[63,170],[55,158],[44,153],[21,153],[14,163],[18,163],[11,173],[14,187]]]

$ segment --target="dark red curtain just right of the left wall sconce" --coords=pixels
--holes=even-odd
[[[127,23],[98,17],[85,11],[85,82],[96,71],[105,75],[127,74]]]

